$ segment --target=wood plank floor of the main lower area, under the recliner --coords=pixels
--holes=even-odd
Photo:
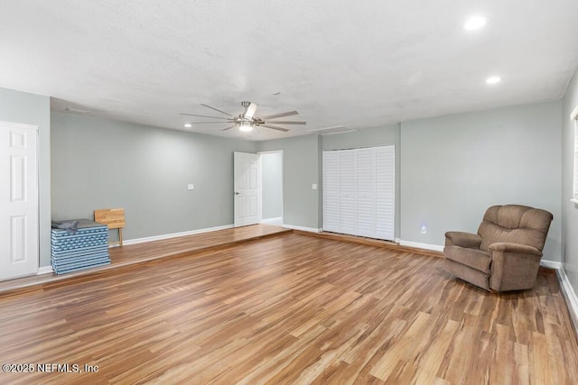
[[[490,294],[438,257],[303,234],[0,294],[0,347],[0,363],[34,368],[3,384],[578,379],[554,274]]]

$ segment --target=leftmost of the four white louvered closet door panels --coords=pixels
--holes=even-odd
[[[340,153],[323,151],[323,230],[340,232]]]

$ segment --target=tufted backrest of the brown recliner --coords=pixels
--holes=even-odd
[[[480,250],[498,242],[521,243],[544,248],[553,215],[545,210],[521,205],[491,206],[478,228]]]

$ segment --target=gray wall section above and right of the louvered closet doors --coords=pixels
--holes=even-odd
[[[322,136],[323,150],[342,150],[361,147],[396,146],[396,238],[400,234],[401,206],[400,206],[400,160],[401,141],[400,124],[390,124],[385,127],[365,128],[354,133],[335,133]],[[322,204],[321,204],[322,207]]]

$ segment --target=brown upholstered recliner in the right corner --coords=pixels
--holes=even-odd
[[[491,206],[478,234],[445,234],[445,267],[482,289],[531,289],[553,215],[538,208]]]

